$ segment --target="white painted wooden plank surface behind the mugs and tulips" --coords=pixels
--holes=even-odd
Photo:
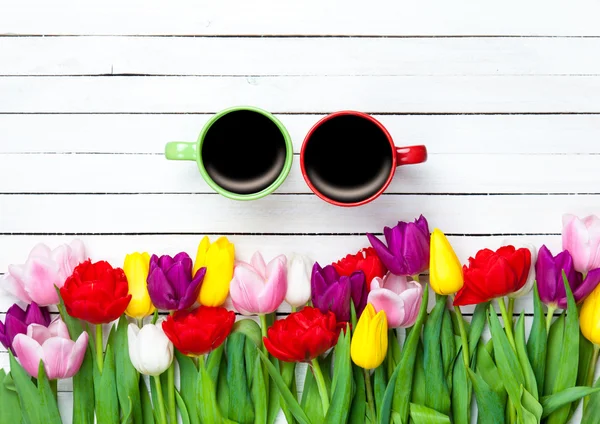
[[[593,0],[4,2],[0,272],[73,237],[114,265],[193,254],[203,234],[242,259],[328,263],[419,213],[462,261],[507,236],[556,251],[563,212],[600,213],[599,15]],[[162,151],[237,104],[276,113],[296,153],[324,114],[357,109],[430,159],[361,208],[311,195],[297,155],[275,195],[230,201]]]

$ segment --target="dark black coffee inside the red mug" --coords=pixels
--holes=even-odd
[[[376,194],[390,176],[394,151],[367,118],[341,115],[325,121],[304,150],[308,179],[326,197],[356,203]]]

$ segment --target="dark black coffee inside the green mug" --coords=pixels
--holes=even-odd
[[[258,193],[273,184],[285,158],[285,138],[277,125],[249,110],[219,118],[202,143],[202,161],[210,178],[238,194]]]

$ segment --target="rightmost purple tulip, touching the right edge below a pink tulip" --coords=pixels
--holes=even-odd
[[[591,270],[584,279],[580,272],[575,271],[573,257],[568,250],[552,256],[544,245],[538,253],[535,273],[540,299],[546,305],[561,309],[567,307],[563,271],[577,303],[582,302],[600,283],[600,268]]]

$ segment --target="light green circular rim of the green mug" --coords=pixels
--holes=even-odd
[[[215,122],[217,122],[223,116],[228,115],[232,112],[239,112],[239,111],[256,112],[256,113],[259,113],[259,114],[269,118],[269,120],[277,126],[277,129],[279,129],[279,132],[281,133],[281,135],[283,135],[283,139],[285,142],[285,147],[286,147],[285,162],[283,164],[283,168],[281,169],[281,172],[279,173],[279,175],[275,179],[275,181],[273,181],[268,187],[266,187],[256,193],[240,194],[240,193],[235,193],[233,191],[224,189],[219,184],[217,184],[215,182],[215,180],[213,180],[211,178],[211,176],[208,174],[208,171],[204,167],[204,160],[202,158],[202,144],[204,143],[204,139],[206,137],[206,133],[208,132],[208,130],[214,125]],[[202,178],[204,179],[204,181],[206,181],[206,183],[214,191],[216,191],[217,193],[219,193],[222,196],[225,196],[229,199],[257,200],[262,197],[265,197],[265,196],[273,193],[275,190],[277,190],[279,188],[279,186],[281,186],[281,184],[283,184],[283,182],[289,175],[290,170],[292,169],[292,162],[294,159],[294,148],[292,145],[292,138],[291,138],[287,128],[272,113],[270,113],[264,109],[255,107],[255,106],[233,106],[233,107],[229,107],[227,109],[223,109],[223,110],[217,112],[204,124],[204,126],[200,130],[200,134],[198,135],[198,140],[196,143],[197,143],[196,164],[198,165],[198,170],[200,171],[200,175],[202,175]]]

